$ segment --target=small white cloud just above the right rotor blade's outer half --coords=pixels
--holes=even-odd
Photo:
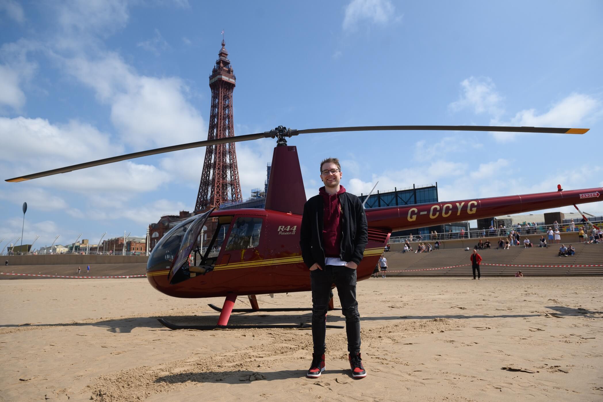
[[[497,117],[504,113],[503,98],[496,92],[496,86],[488,77],[469,77],[461,81],[461,95],[458,101],[448,105],[450,110],[473,110],[474,113],[488,113]]]

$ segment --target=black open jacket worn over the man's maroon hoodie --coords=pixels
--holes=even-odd
[[[360,264],[368,243],[367,217],[360,199],[349,193],[339,194],[341,204],[341,254],[346,262]],[[323,197],[315,195],[306,201],[301,218],[300,246],[303,262],[310,268],[318,263],[324,268]]]

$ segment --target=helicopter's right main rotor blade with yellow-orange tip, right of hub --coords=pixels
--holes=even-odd
[[[508,133],[584,134],[589,128],[511,127],[490,125],[366,125],[359,127],[330,127],[296,130],[297,134],[338,133],[340,131],[503,131]]]

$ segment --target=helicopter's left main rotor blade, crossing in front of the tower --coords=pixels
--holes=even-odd
[[[120,162],[122,160],[135,159],[143,156],[165,154],[165,152],[180,151],[182,149],[199,148],[200,146],[216,145],[230,142],[241,142],[249,140],[257,140],[260,138],[270,137],[268,133],[246,134],[244,136],[224,137],[213,140],[189,142],[180,145],[164,146],[163,148],[149,149],[148,151],[133,152],[131,154],[119,155],[105,159],[93,160],[92,162],[78,163],[77,165],[66,166],[65,168],[52,169],[45,172],[34,173],[21,177],[9,178],[5,181],[16,183],[18,181],[31,180],[33,178],[51,176],[59,173],[67,173],[77,171],[78,169],[92,168],[92,166],[107,165],[107,163]]]

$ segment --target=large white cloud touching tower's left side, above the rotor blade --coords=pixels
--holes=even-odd
[[[80,56],[62,61],[101,102],[111,105],[111,121],[122,140],[136,149],[198,141],[207,132],[180,78],[138,75],[112,52],[95,60]]]

